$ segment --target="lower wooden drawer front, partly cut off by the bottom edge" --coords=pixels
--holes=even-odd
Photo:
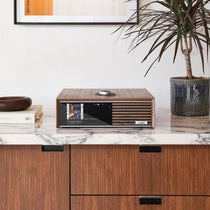
[[[151,198],[153,199],[153,198]],[[159,197],[158,197],[159,199]],[[210,197],[162,196],[161,204],[138,196],[72,196],[71,210],[209,210]],[[141,204],[140,204],[141,203]],[[151,204],[153,203],[153,204]]]

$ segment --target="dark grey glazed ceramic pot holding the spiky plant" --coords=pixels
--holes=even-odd
[[[184,116],[209,115],[210,78],[171,78],[171,113]]]

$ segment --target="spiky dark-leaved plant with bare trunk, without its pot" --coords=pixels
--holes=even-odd
[[[204,72],[203,44],[206,45],[207,59],[210,45],[210,10],[207,9],[209,1],[210,0],[151,1],[136,10],[129,20],[116,30],[122,29],[124,38],[131,38],[131,51],[144,41],[154,38],[152,46],[142,62],[156,50],[159,50],[159,52],[158,56],[145,73],[145,76],[152,66],[160,61],[164,52],[169,47],[174,46],[173,62],[175,62],[178,49],[180,48],[185,56],[186,78],[195,78],[192,74],[190,60],[193,42],[199,50]],[[161,9],[151,9],[153,5]],[[136,16],[139,18],[139,24],[130,25],[130,21],[135,19]]]

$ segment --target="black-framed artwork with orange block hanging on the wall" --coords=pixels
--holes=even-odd
[[[15,24],[121,24],[138,8],[138,0],[14,1]]]

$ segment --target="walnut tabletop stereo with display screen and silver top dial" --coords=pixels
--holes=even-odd
[[[63,89],[57,128],[154,128],[155,99],[146,89]]]

